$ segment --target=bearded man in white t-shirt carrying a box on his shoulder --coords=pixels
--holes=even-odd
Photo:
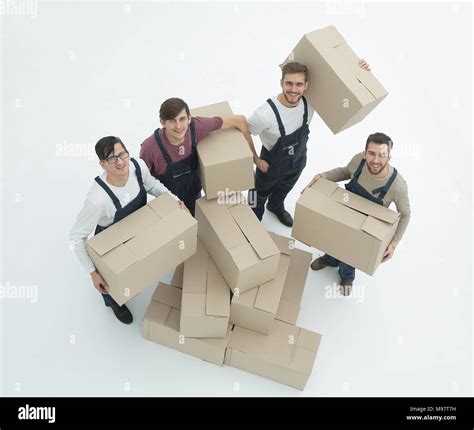
[[[360,67],[370,70],[361,59]],[[314,114],[303,94],[308,88],[308,70],[296,61],[282,67],[282,92],[268,99],[248,119],[249,131],[262,141],[260,157],[255,159],[255,188],[249,203],[261,220],[267,209],[288,227],[293,218],[285,210],[285,198],[306,166],[309,123]],[[255,156],[254,156],[255,158]]]

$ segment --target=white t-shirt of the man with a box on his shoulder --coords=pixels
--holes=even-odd
[[[272,97],[271,100],[277,107],[287,136],[295,130],[298,130],[303,125],[303,99],[300,99],[298,105],[292,108],[288,108],[281,104],[278,101],[278,96]],[[313,114],[314,109],[308,103],[308,124],[311,122]],[[254,136],[259,135],[263,146],[265,146],[269,151],[275,146],[275,143],[280,138],[278,121],[268,102],[265,102],[254,112],[254,114],[248,119],[248,124],[250,133]]]

